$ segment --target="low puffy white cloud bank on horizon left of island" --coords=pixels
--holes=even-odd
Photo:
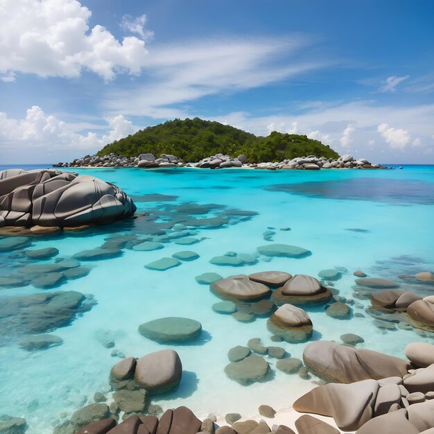
[[[122,114],[106,118],[107,133],[87,132],[83,135],[71,125],[45,114],[41,107],[33,105],[24,119],[11,119],[0,112],[0,148],[62,148],[71,147],[83,152],[94,152],[101,146],[132,134],[136,129]]]

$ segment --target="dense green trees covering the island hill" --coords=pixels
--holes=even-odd
[[[249,162],[272,162],[307,155],[338,158],[329,146],[300,134],[282,134],[273,131],[268,137],[257,137],[230,125],[199,118],[175,119],[139,130],[120,140],[107,144],[98,155],[125,155],[136,157],[142,153],[172,154],[185,162],[198,162],[215,155],[236,157],[244,154]]]

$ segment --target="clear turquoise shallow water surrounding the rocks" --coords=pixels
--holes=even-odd
[[[144,338],[137,327],[164,316],[198,320],[206,333],[196,345],[175,347],[184,375],[175,392],[152,400],[163,408],[184,404],[198,415],[237,412],[248,417],[256,414],[263,403],[276,409],[288,408],[296,397],[312,388],[312,381],[275,370],[277,359],[272,358],[268,362],[273,376],[268,382],[242,386],[225,376],[227,351],[235,345],[246,345],[250,338],[259,337],[264,345],[284,347],[291,356],[299,358],[305,344],[272,342],[266,319],[243,324],[212,311],[211,305],[219,299],[208,286],[194,279],[202,272],[218,272],[227,277],[282,270],[316,276],[324,268],[340,266],[349,270],[335,282],[343,297],[353,297],[352,272],[358,269],[372,277],[394,279],[402,288],[419,293],[433,290],[408,283],[398,275],[434,269],[434,166],[406,166],[390,171],[89,168],[78,172],[114,182],[136,200],[138,212],[159,209],[162,215],[157,221],[189,217],[189,210],[179,207],[184,202],[224,205],[226,209],[256,211],[257,215],[241,221],[236,218],[238,223],[218,229],[198,228],[196,237],[205,239],[194,245],[166,243],[164,249],[152,252],[124,249],[122,257],[92,261],[86,264],[93,267],[89,275],[56,288],[92,294],[98,304],[68,327],[53,331],[64,340],[59,347],[28,352],[13,339],[0,346],[1,414],[26,417],[28,433],[51,433],[53,426],[63,420],[63,412],[70,417],[74,410],[92,402],[95,392],[107,390],[110,368],[120,359],[110,356],[112,349],[101,345],[101,335],[105,333],[114,340],[114,348],[126,356],[143,356],[166,346]],[[146,196],[155,193],[172,197]],[[157,202],[150,201],[155,199]],[[194,217],[222,213],[227,216],[224,212],[224,208],[211,207],[209,214]],[[267,227],[277,228],[272,242],[297,245],[313,254],[303,259],[273,258],[269,262],[260,257],[254,265],[237,268],[209,263],[212,257],[229,250],[256,252],[258,246],[269,243],[262,235]],[[280,227],[291,230],[280,231]],[[37,238],[30,249],[56,247],[59,257],[71,257],[80,250],[98,248],[113,233],[141,234],[151,229],[155,227],[144,224],[144,218],[139,217],[133,225],[83,232],[82,236]],[[200,258],[164,272],[144,268],[146,263],[180,250],[193,250]],[[3,270],[14,266],[14,258],[0,254]],[[42,261],[53,262],[54,259]],[[29,285],[1,289],[0,297],[42,292]],[[353,306],[354,313],[363,313],[363,307],[369,304],[356,302],[361,307]],[[322,308],[306,311],[313,321],[314,338],[340,341],[342,333],[357,333],[365,339],[360,347],[401,357],[408,342],[428,340],[415,331],[379,329],[369,315],[334,320]]]

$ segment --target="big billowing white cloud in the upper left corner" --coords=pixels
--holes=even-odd
[[[83,69],[105,80],[140,73],[148,53],[144,40],[127,36],[120,42],[103,26],[91,29],[91,15],[77,0],[1,0],[1,79],[12,81],[18,72],[78,77]]]

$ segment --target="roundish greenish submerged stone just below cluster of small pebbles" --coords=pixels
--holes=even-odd
[[[239,362],[231,362],[225,366],[225,372],[229,379],[240,384],[248,385],[257,381],[264,381],[270,371],[270,365],[257,354],[243,358]]]

